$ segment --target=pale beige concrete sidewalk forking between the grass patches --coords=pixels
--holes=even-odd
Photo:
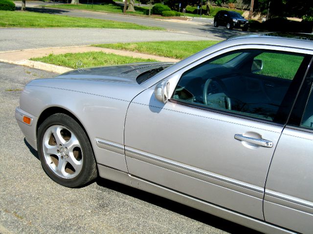
[[[32,68],[37,68],[40,70],[45,70],[55,73],[64,73],[72,70],[68,67],[62,67],[57,65],[52,65],[44,62],[31,61],[31,58],[38,58],[48,56],[49,54],[59,55],[66,53],[84,53],[90,51],[102,51],[107,54],[115,54],[121,56],[130,56],[133,58],[141,59],[155,59],[161,62],[178,62],[179,59],[171,59],[165,57],[159,57],[155,55],[147,55],[141,53],[135,53],[130,51],[123,50],[113,50],[107,48],[100,48],[94,46],[73,46],[73,47],[56,47],[56,48],[42,48],[42,49],[29,49],[29,50],[20,50],[20,51],[5,51],[0,52],[0,62],[6,62],[16,65],[22,65]]]

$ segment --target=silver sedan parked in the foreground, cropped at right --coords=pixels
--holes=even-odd
[[[313,232],[313,35],[33,80],[15,117],[43,169],[97,176],[264,233]]]

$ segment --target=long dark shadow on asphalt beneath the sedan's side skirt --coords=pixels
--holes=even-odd
[[[128,196],[132,196],[134,198],[143,200],[145,202],[151,203],[153,205],[159,206],[163,209],[170,210],[172,212],[178,213],[179,215],[184,215],[186,217],[195,219],[201,223],[210,225],[217,229],[221,229],[227,233],[231,234],[261,234],[257,231],[251,230],[239,224],[230,222],[226,219],[210,215],[208,213],[202,212],[200,210],[188,207],[186,205],[180,204],[178,202],[169,200],[167,198],[150,194],[145,191],[141,191],[139,189],[135,189],[133,187],[129,187],[111,180],[103,179],[98,177],[96,179],[96,183],[110,190],[114,190],[118,193],[122,193]]]

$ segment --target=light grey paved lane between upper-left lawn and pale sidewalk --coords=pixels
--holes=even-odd
[[[99,28],[0,28],[0,51],[159,40],[207,40],[191,34]]]

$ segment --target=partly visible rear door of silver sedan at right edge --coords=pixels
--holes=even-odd
[[[267,222],[313,232],[313,67],[273,156],[266,182]],[[309,96],[309,99],[308,99]]]

